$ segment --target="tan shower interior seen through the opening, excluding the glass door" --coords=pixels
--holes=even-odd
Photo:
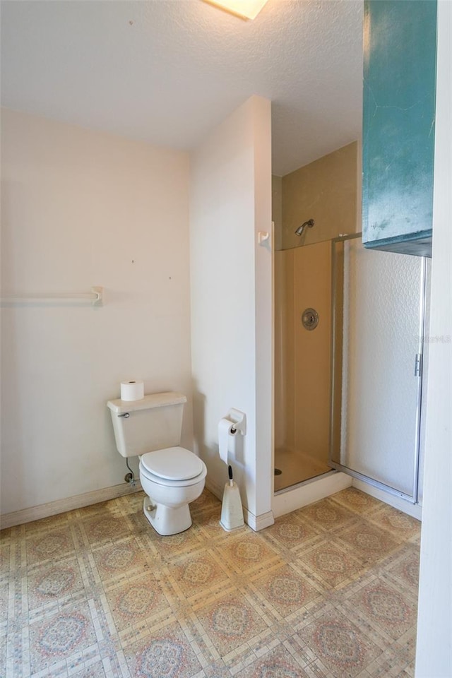
[[[275,492],[331,472],[331,239],[356,230],[357,155],[273,177]]]

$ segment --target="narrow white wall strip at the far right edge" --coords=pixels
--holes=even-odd
[[[452,675],[452,4],[438,3],[438,73],[417,678]],[[448,341],[447,341],[448,338]]]

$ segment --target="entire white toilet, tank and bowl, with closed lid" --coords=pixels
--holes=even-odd
[[[123,457],[140,456],[140,482],[148,495],[143,511],[159,535],[191,526],[189,503],[206,482],[206,464],[180,447],[182,393],[153,393],[141,400],[109,400],[114,437]]]

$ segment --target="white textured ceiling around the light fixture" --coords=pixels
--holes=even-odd
[[[202,0],[2,1],[2,105],[190,150],[257,94],[287,174],[359,138],[362,13],[360,0],[268,0],[254,22]]]

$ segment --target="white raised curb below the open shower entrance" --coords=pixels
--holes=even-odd
[[[285,516],[286,513],[292,513],[302,506],[313,504],[314,501],[324,499],[326,496],[340,492],[341,489],[350,487],[352,478],[350,475],[338,471],[328,473],[325,477],[313,478],[311,482],[304,483],[294,489],[287,489],[287,492],[275,494],[272,501],[273,516]]]

